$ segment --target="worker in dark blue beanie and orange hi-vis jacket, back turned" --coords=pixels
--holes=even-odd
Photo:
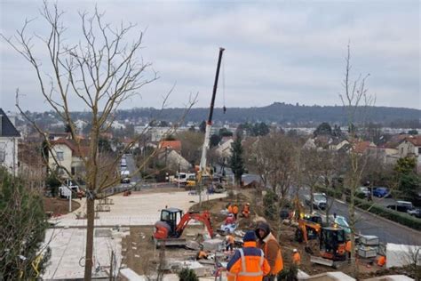
[[[247,231],[242,241],[242,249],[235,250],[226,265],[226,277],[228,281],[260,281],[270,272],[270,266],[263,251],[256,247],[256,234]]]

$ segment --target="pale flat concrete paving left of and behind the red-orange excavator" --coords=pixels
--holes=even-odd
[[[219,197],[226,197],[226,194],[210,195],[209,199]],[[111,198],[114,205],[111,205],[110,212],[99,213],[99,219],[95,220],[96,227],[154,225],[165,206],[178,207],[186,212],[198,201],[198,197],[189,196],[186,191],[148,194],[134,192],[130,197],[116,195]],[[47,230],[45,242],[52,249],[52,259],[44,273],[45,279],[83,278],[86,229],[75,228],[86,226],[86,220],[75,219],[75,213],[83,212],[86,207],[84,200],[81,203],[79,210],[54,220],[64,229]],[[128,231],[118,232],[111,228],[102,230],[95,230],[92,270],[98,269],[98,272],[93,277],[107,277],[106,269],[109,268],[112,250],[115,251],[116,261],[121,261],[121,241],[124,235],[129,234]]]

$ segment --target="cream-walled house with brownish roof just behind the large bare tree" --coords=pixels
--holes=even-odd
[[[72,176],[84,173],[83,157],[89,152],[87,145],[82,141],[78,145],[74,140],[68,139],[52,141],[51,144],[52,151],[48,158],[50,169],[58,168],[60,176],[64,179],[69,177],[68,173]]]

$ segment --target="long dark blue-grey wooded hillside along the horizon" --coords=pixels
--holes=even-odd
[[[120,110],[118,119],[131,117],[154,117],[159,120],[174,121],[182,114],[183,108],[167,108],[160,112],[155,108],[133,108]],[[186,122],[202,122],[208,117],[209,108],[192,108],[186,117]],[[393,122],[419,123],[421,110],[412,108],[370,107],[359,108],[356,122],[366,121],[379,124]],[[223,114],[222,108],[215,108],[214,120],[229,123],[243,122],[276,122],[278,124],[320,124],[322,122],[346,124],[346,112],[341,106],[300,106],[275,102],[262,108],[227,108]]]

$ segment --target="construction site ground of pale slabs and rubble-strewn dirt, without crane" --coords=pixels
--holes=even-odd
[[[181,269],[193,269],[196,276],[203,280],[225,280],[226,263],[234,253],[226,251],[226,235],[234,235],[234,250],[241,248],[245,231],[254,230],[258,221],[267,221],[274,236],[279,237],[284,269],[289,269],[292,264],[293,249],[300,253],[298,279],[353,280],[350,276],[353,276],[355,269],[345,255],[344,259],[325,255],[318,237],[301,243],[297,241],[302,221],[292,217],[266,220],[262,197],[258,196],[255,187],[252,183],[242,189],[228,188],[220,194],[203,193],[201,204],[197,193],[178,188],[146,189],[132,192],[129,196],[120,194],[109,197],[109,208],[97,207],[94,277],[179,280],[177,274]],[[52,219],[56,229],[50,229],[52,262],[44,274],[45,279],[83,277],[85,220],[77,219],[79,213],[83,213],[83,200],[80,203],[81,206],[73,213]],[[237,220],[227,211],[227,206],[234,204],[240,206]],[[244,216],[241,211],[246,204],[250,206],[250,213]],[[181,217],[168,216],[175,213]],[[175,223],[172,230],[176,232],[171,232],[172,222]],[[160,223],[170,226],[164,237],[159,237]],[[311,231],[308,226],[307,229]],[[373,244],[372,241],[369,243]],[[362,246],[360,243],[359,247]],[[199,259],[201,250],[207,253],[207,257]],[[401,275],[396,280],[411,280],[402,277],[404,275],[416,279],[419,277],[413,275],[419,274],[419,266],[412,269],[409,263],[403,268],[379,267],[379,251],[382,250],[376,250],[374,255],[367,258],[357,256],[357,279],[385,275]],[[387,261],[393,262],[393,255],[386,255]],[[324,262],[314,261],[314,257]],[[394,259],[396,257],[398,260],[404,258],[397,255]],[[405,264],[404,261],[402,263]],[[328,272],[337,271],[336,277],[327,275]]]

